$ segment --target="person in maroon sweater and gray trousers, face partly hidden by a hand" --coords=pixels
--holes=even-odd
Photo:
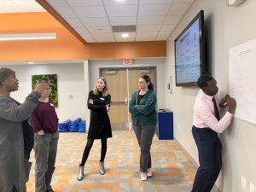
[[[44,81],[39,82],[38,84]],[[44,82],[48,84],[47,82]],[[58,117],[54,102],[49,98],[51,89],[44,90],[38,99],[38,106],[32,112],[30,122],[35,132],[34,152],[35,191],[54,192],[50,183],[55,171],[55,160],[59,140]]]

